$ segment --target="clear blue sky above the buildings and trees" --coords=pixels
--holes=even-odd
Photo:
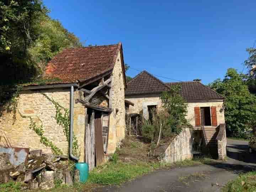
[[[242,71],[256,39],[255,0],[43,2],[84,46],[122,42],[131,68],[176,80],[208,84],[228,68]]]

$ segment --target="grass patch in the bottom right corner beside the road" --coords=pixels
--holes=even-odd
[[[255,192],[256,191],[256,171],[239,175],[233,181],[228,182],[222,192]]]

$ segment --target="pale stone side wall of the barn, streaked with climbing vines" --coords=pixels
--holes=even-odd
[[[69,89],[41,91],[69,110]],[[44,153],[52,153],[49,147],[46,147],[40,142],[40,137],[29,128],[30,119],[22,117],[29,116],[32,117],[37,126],[42,125],[44,130],[43,135],[61,149],[64,154],[67,154],[68,142],[64,135],[63,128],[56,122],[56,108],[41,91],[21,91],[15,121],[13,119],[13,112],[7,112],[7,110],[4,110],[3,106],[1,106],[0,145],[42,149]],[[81,95],[80,91],[75,91],[74,100],[80,98]],[[74,134],[78,138],[81,157],[84,156],[84,132],[85,108],[80,103],[74,102]],[[83,158],[81,158],[81,160],[82,159]]]

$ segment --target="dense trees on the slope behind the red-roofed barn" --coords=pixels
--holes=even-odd
[[[33,81],[63,48],[81,46],[41,0],[2,0],[0,13],[0,85]]]

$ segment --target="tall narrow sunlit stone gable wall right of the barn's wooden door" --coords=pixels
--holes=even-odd
[[[114,153],[116,146],[125,137],[124,81],[120,52],[118,53],[111,78],[110,107],[112,108],[112,113],[110,114],[107,153]]]

